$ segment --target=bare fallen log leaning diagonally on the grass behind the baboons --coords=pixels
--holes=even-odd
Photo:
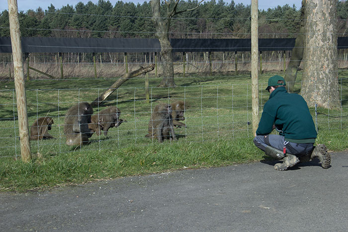
[[[103,103],[103,101],[105,101],[105,99],[110,96],[110,94],[115,91],[119,86],[121,86],[121,84],[123,84],[124,82],[126,82],[127,80],[129,80],[130,78],[133,77],[137,77],[141,74],[145,74],[147,72],[151,72],[155,69],[155,64],[152,64],[149,67],[141,67],[140,69],[127,73],[125,75],[123,75],[122,77],[120,77],[118,80],[116,80],[116,82],[114,82],[105,92],[103,92],[99,97],[97,97],[92,103],[90,103],[90,105],[92,107],[101,105]]]

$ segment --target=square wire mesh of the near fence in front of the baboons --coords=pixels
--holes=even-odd
[[[191,78],[190,85],[177,87],[150,87],[150,99],[145,99],[144,87],[132,87],[130,82],[126,87],[115,89],[103,105],[93,107],[93,115],[110,106],[120,110],[120,118],[124,122],[118,127],[108,130],[107,136],[103,133],[93,134],[87,146],[68,146],[67,136],[64,133],[66,113],[73,105],[79,102],[92,102],[105,88],[79,88],[79,82],[63,84],[57,82],[47,88],[27,89],[27,108],[29,126],[41,117],[53,119],[49,134],[55,139],[32,140],[32,153],[59,155],[74,152],[76,149],[117,150],[128,146],[147,146],[158,143],[156,138],[146,138],[151,114],[160,103],[173,103],[182,100],[185,103],[184,120],[187,127],[175,127],[177,141],[166,140],[164,143],[205,143],[207,141],[231,142],[234,138],[251,139],[252,132],[252,94],[251,83],[248,77],[243,77],[239,83],[229,83],[224,77]],[[231,77],[232,79],[234,77]],[[237,77],[238,78],[238,77]],[[187,79],[185,79],[187,82]],[[179,81],[178,81],[179,82]],[[245,83],[243,83],[245,82]],[[46,82],[44,82],[46,83]],[[348,127],[348,78],[340,78],[340,109],[328,110],[311,108],[316,127],[320,132],[345,131]],[[65,88],[54,88],[56,86]],[[266,82],[260,83],[260,110],[267,101],[269,94],[264,91]],[[70,86],[71,88],[67,88]],[[295,91],[301,82],[295,83]],[[16,99],[14,89],[0,90],[0,157],[20,156],[20,143]]]

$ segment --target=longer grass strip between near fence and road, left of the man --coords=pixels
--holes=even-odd
[[[244,148],[241,155],[241,146]],[[39,155],[24,163],[1,162],[1,190],[25,191],[129,175],[244,163],[262,158],[252,140],[164,143],[103,151]]]

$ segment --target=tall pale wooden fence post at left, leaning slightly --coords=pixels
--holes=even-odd
[[[16,89],[18,127],[20,138],[20,154],[22,160],[28,162],[31,160],[28,114],[26,108],[26,96],[24,85],[24,70],[22,45],[20,41],[18,5],[17,0],[8,0],[8,17],[11,35],[11,46],[14,67],[14,85]]]

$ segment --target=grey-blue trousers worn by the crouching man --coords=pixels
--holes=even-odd
[[[258,135],[254,138],[254,144],[262,151],[264,151],[267,146],[283,151],[285,145],[286,153],[296,156],[311,154],[314,148],[313,144],[296,144],[285,141],[284,136],[280,135]]]

